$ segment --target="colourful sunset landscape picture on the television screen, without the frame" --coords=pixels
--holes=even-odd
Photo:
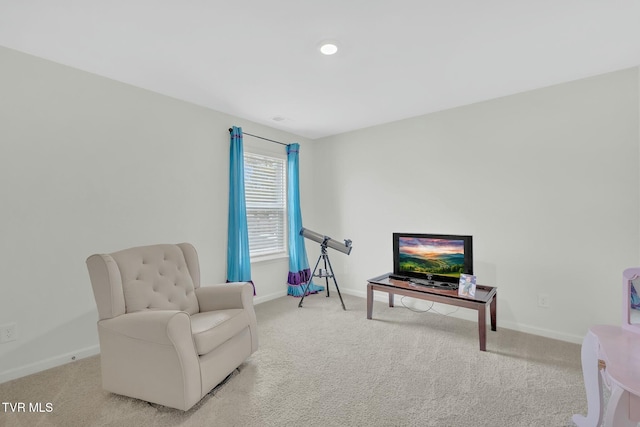
[[[460,277],[464,272],[464,241],[400,237],[400,270],[403,272]]]

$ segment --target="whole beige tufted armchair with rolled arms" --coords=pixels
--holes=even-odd
[[[258,348],[253,286],[200,287],[188,243],[96,254],[87,267],[105,390],[186,411]]]

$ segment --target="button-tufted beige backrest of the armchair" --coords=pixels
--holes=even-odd
[[[100,319],[141,310],[200,311],[200,266],[189,243],[96,254],[87,268]]]

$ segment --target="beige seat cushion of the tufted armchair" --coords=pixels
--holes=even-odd
[[[241,308],[191,315],[191,333],[199,356],[209,353],[247,327],[249,315]]]

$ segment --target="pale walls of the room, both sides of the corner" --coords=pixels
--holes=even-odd
[[[224,281],[231,125],[301,143],[304,225],[354,241],[331,254],[342,290],[391,270],[393,231],[470,233],[499,326],[579,341],[617,324],[640,252],[639,84],[625,70],[309,143],[0,47],[0,325],[19,336],[0,382],[98,351],[92,253],[189,241],[203,282]],[[287,270],[253,266],[257,302]]]

